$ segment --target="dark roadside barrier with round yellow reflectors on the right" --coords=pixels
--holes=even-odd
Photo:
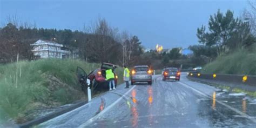
[[[206,74],[206,73],[200,73],[200,71],[191,71],[191,72],[188,72],[188,77],[218,80],[221,82],[256,86],[256,76],[250,76],[250,75],[227,75],[227,74],[215,74],[215,73]]]

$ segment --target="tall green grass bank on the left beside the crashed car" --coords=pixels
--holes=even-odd
[[[90,73],[100,64],[72,59],[41,59],[0,65],[0,110],[22,123],[26,122],[24,117],[35,109],[49,109],[86,99],[77,80],[77,66]],[[120,83],[122,69],[118,68],[117,72]],[[1,116],[2,113],[0,119],[3,119]]]

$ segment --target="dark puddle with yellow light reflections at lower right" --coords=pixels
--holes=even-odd
[[[226,106],[219,104],[217,100],[220,101],[216,96],[216,92],[213,92],[212,99],[200,100],[200,103],[198,103],[198,116],[202,120],[208,118],[208,123],[211,127],[250,127],[253,125],[253,122],[250,119],[247,119],[245,116],[241,116],[228,109]],[[239,106],[239,111],[245,113],[248,112],[246,99],[241,99]],[[237,106],[232,107],[238,109]]]

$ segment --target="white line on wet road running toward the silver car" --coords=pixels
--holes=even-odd
[[[79,126],[79,128],[81,127],[85,127],[87,125],[89,125],[90,123],[94,122],[97,118],[99,118],[100,116],[102,116],[105,112],[109,111],[114,105],[116,105],[118,102],[120,102],[120,100],[123,99],[123,97],[126,97],[126,95],[132,91],[132,89],[134,89],[134,87],[136,87],[136,85],[133,85],[133,87],[127,91],[122,97],[118,98],[114,103],[112,103],[111,105],[107,106],[103,111],[99,112],[96,116],[92,117],[91,119],[87,120],[87,122],[81,124]]]

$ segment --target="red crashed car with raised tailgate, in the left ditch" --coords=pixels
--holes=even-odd
[[[109,82],[106,80],[106,70],[112,69],[114,73],[114,84],[117,85],[117,74],[114,72],[114,69],[116,69],[117,66],[111,63],[102,63],[102,66],[100,66],[100,69],[96,69],[89,73],[88,79],[91,80],[91,86],[93,87],[99,87],[100,89],[106,89],[109,86]]]

